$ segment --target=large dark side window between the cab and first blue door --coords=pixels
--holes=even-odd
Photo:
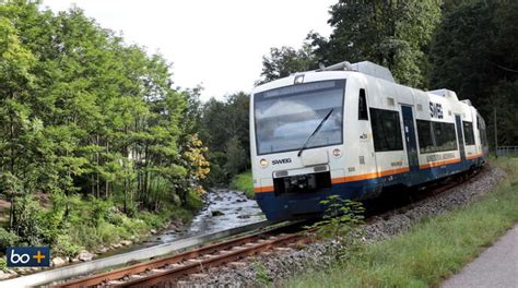
[[[370,124],[375,152],[403,149],[398,111],[370,108]]]

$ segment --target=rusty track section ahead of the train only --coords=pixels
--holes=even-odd
[[[243,236],[177,255],[139,263],[103,274],[71,280],[55,287],[170,287],[189,275],[233,263],[247,256],[290,244],[307,243],[302,223]]]

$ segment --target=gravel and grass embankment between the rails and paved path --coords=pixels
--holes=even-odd
[[[493,160],[460,185],[368,219],[353,241],[328,239],[258,255],[185,285],[438,285],[518,221],[517,190],[518,161]]]

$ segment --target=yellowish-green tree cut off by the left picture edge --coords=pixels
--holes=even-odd
[[[31,118],[27,105],[33,89],[31,70],[35,58],[23,47],[16,29],[8,19],[0,19],[0,175],[5,181],[2,188],[11,202],[10,229],[14,229],[16,196],[36,185],[35,160],[24,153],[32,146],[39,132],[39,120]],[[21,148],[22,147],[22,148]]]

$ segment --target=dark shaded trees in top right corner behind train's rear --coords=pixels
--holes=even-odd
[[[432,85],[470,99],[488,120],[490,133],[497,109],[499,145],[518,143],[517,16],[516,1],[454,5],[437,28],[429,56]]]

